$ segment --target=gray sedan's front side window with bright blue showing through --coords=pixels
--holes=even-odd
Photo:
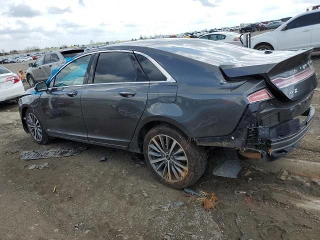
[[[86,55],[70,62],[56,75],[54,86],[72,86],[83,84],[91,55]]]

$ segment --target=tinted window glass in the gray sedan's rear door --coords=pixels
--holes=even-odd
[[[130,59],[133,53],[102,52],[96,63],[93,83],[132,82],[136,71]]]

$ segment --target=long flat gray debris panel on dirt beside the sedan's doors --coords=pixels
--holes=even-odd
[[[33,151],[22,151],[21,160],[31,160],[31,159],[41,159],[50,157],[62,157],[71,156],[79,154],[81,151],[85,150],[86,147],[66,147],[66,148],[52,148],[47,150],[33,150]]]

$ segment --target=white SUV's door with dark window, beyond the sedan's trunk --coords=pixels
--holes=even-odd
[[[310,47],[315,14],[308,13],[287,23],[287,30],[278,33],[278,50]]]

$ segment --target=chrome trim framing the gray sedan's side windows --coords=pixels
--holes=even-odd
[[[129,53],[136,53],[136,54],[140,54],[144,57],[146,57],[147,59],[149,59],[155,66],[156,68],[159,69],[159,71],[166,77],[166,81],[130,81],[130,82],[103,82],[103,83],[89,83],[89,84],[79,84],[79,85],[69,85],[69,86],[53,86],[53,87],[49,87],[48,89],[56,89],[56,88],[65,88],[65,87],[71,87],[71,86],[88,86],[88,85],[105,85],[105,84],[135,84],[135,83],[161,83],[161,82],[176,82],[174,80],[174,78],[157,62],[155,61],[152,57],[150,57],[149,55],[140,52],[140,51],[133,51],[133,50],[121,50],[121,49],[110,49],[110,50],[97,50],[97,51],[91,51],[91,52],[87,52],[84,53],[82,55],[79,55],[78,57],[68,61],[67,63],[65,63],[65,65],[59,69],[57,72],[54,73],[54,75],[51,77],[54,78],[56,76],[56,74],[58,74],[64,67],[66,67],[68,64],[70,64],[71,62],[73,62],[74,60],[83,57],[83,56],[87,56],[87,55],[91,55],[91,54],[95,54],[95,53],[101,53],[101,52],[129,52]]]

